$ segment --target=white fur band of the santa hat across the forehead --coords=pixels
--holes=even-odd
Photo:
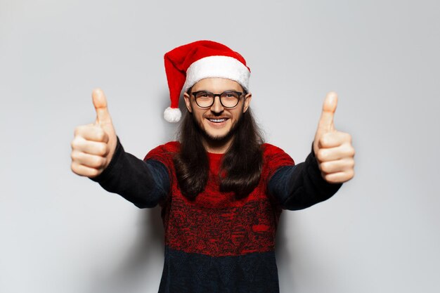
[[[245,91],[249,91],[249,69],[237,59],[228,56],[208,56],[191,64],[186,70],[184,91],[208,77],[231,79],[238,82]]]

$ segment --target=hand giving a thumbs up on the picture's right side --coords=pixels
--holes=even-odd
[[[337,131],[333,124],[336,106],[337,94],[328,93],[313,141],[313,152],[321,175],[329,183],[343,183],[354,176],[355,152],[351,145],[351,136]]]

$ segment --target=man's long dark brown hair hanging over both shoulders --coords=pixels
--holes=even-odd
[[[202,144],[202,136],[192,113],[187,110],[179,126],[178,140],[181,146],[174,157],[174,165],[181,193],[190,200],[195,200],[205,190],[209,176],[209,159]],[[241,199],[254,190],[259,183],[263,165],[263,143],[252,111],[247,108],[233,129],[233,141],[221,162],[221,192],[233,192],[236,199]]]

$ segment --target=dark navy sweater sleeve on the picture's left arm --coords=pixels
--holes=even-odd
[[[108,167],[100,175],[90,179],[139,208],[155,207],[164,203],[170,189],[167,167],[155,159],[142,160],[125,152],[119,137]]]

